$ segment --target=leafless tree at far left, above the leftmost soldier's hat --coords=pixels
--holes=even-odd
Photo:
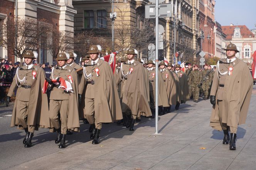
[[[38,46],[38,24],[33,18],[15,18],[7,17],[0,24],[0,45],[11,50],[17,57],[22,55],[27,50],[36,50]]]

